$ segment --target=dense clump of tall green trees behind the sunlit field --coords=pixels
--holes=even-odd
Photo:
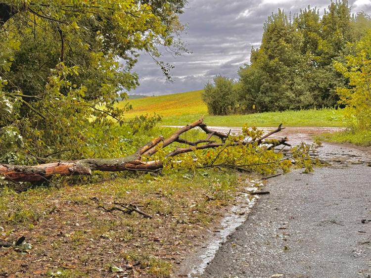
[[[334,68],[355,53],[355,44],[371,29],[371,17],[351,14],[347,0],[331,1],[321,17],[308,6],[291,16],[278,9],[268,17],[261,46],[251,50],[250,65],[239,80],[216,76],[205,85],[203,100],[211,114],[254,113],[333,107],[336,88],[349,87]]]

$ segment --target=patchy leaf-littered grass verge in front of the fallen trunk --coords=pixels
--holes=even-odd
[[[208,178],[204,178],[207,176]],[[11,277],[169,277],[246,186],[246,176],[218,169],[171,175],[122,174],[99,183],[0,187],[0,241],[24,235],[29,253],[0,248]],[[94,201],[92,198],[99,200]],[[153,216],[107,212],[114,202]],[[38,276],[38,277],[39,277]]]

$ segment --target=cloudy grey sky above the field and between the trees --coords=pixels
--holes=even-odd
[[[135,67],[140,86],[133,92],[146,95],[179,93],[203,89],[214,76],[237,77],[237,70],[250,61],[251,46],[259,47],[263,23],[278,8],[298,12],[308,4],[323,13],[330,0],[189,0],[181,15],[188,25],[183,40],[191,54],[173,57],[165,52],[161,60],[175,66],[173,82],[165,80],[160,68],[142,55]],[[371,0],[349,0],[352,12],[371,13]]]

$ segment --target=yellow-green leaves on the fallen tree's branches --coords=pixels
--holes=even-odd
[[[186,169],[197,172],[198,169],[210,167],[237,167],[248,172],[266,175],[277,172],[289,172],[292,166],[312,171],[313,164],[318,162],[310,157],[310,153],[315,146],[302,143],[282,153],[272,147],[275,143],[278,143],[278,139],[265,139],[265,143],[259,144],[258,139],[262,135],[263,130],[256,127],[249,128],[247,125],[244,125],[241,134],[230,135],[221,146],[199,150],[194,149],[192,152],[173,157],[168,156],[168,153],[179,147],[184,147],[184,145],[181,143],[172,144],[166,148],[160,146],[157,153],[150,159],[162,161],[165,173],[173,173],[175,170],[183,172]],[[197,130],[192,130],[182,135],[182,139],[188,141],[205,139],[204,137],[205,134]],[[213,140],[215,141],[215,139]],[[254,142],[249,144],[241,143],[247,140],[254,140]],[[295,161],[295,165],[292,165],[292,161]]]

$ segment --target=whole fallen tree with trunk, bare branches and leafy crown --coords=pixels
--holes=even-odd
[[[200,128],[207,135],[206,139],[188,141],[180,138],[187,131]],[[154,171],[163,168],[204,168],[204,167],[231,167],[245,171],[258,171],[272,174],[277,170],[286,172],[292,166],[294,159],[299,166],[312,167],[310,148],[304,143],[294,147],[287,157],[279,145],[290,146],[287,138],[268,139],[280,132],[281,125],[268,134],[256,128],[244,127],[242,135],[232,136],[210,130],[199,119],[186,125],[168,138],[157,137],[135,153],[123,158],[114,159],[80,159],[75,161],[55,161],[37,166],[14,166],[0,164],[0,174],[7,181],[13,182],[43,182],[49,181],[55,175],[92,175],[92,171]],[[219,141],[215,141],[215,139]],[[166,147],[173,143],[176,148],[166,151]],[[207,150],[206,154],[204,153]],[[156,156],[157,155],[157,156]],[[259,166],[259,168],[257,168]]]

